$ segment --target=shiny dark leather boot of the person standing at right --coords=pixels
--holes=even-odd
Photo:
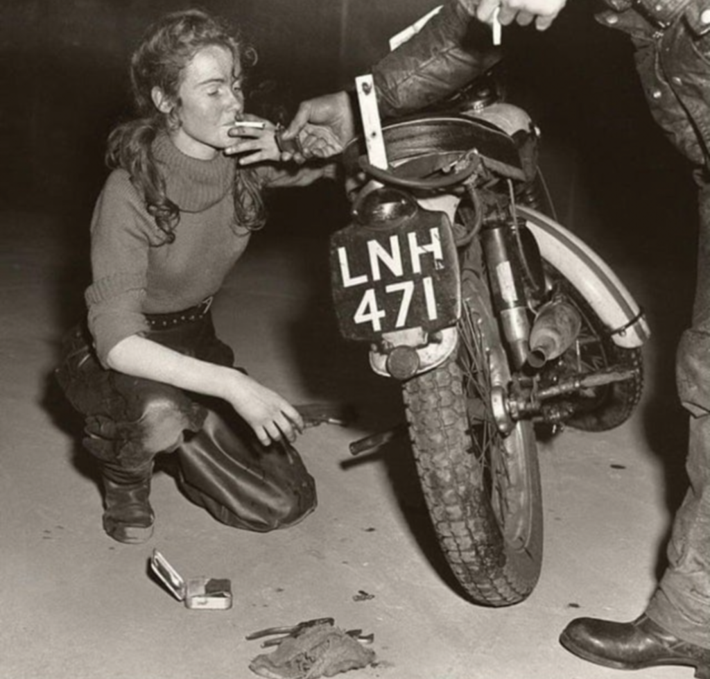
[[[698,679],[710,679],[710,648],[678,639],[643,614],[632,622],[577,618],[559,636],[567,651],[584,660],[616,668],[684,665]]]

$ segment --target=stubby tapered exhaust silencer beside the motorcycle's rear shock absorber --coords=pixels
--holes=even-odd
[[[562,356],[577,339],[580,328],[579,311],[569,302],[557,298],[545,304],[532,324],[528,364],[542,368],[548,361]]]

